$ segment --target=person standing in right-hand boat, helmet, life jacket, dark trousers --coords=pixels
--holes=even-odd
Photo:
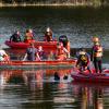
[[[101,60],[102,60],[102,47],[99,43],[99,39],[97,39],[96,41],[94,41],[94,46],[92,48],[92,57],[90,57],[90,61],[93,61],[94,63],[96,73],[102,72]]]

